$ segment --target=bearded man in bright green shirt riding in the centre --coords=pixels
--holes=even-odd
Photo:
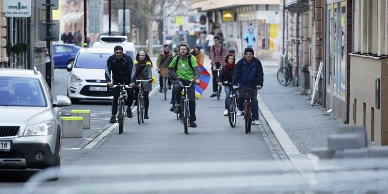
[[[195,77],[195,82],[200,82],[200,74],[197,62],[195,57],[189,54],[189,45],[186,43],[181,43],[178,46],[179,55],[174,57],[170,66],[168,67],[168,73],[174,78],[174,80],[178,80],[182,82],[183,85],[190,85],[190,80],[193,80]],[[189,61],[190,60],[190,61]],[[175,86],[175,97],[177,100],[177,104],[175,105],[175,113],[181,112],[181,98],[180,92],[182,91],[182,86],[180,84],[176,84]],[[191,87],[187,88],[187,95],[189,97],[189,109],[190,109],[190,127],[197,127],[195,120],[195,90],[194,84]]]

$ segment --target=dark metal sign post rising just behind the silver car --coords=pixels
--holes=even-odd
[[[50,0],[46,0],[46,82],[51,89],[51,48],[50,48]]]

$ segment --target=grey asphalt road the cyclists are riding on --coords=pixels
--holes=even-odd
[[[52,93],[65,95],[67,71],[55,69],[55,81]],[[124,133],[118,134],[113,129],[92,148],[74,149],[81,145],[100,128],[109,126],[109,102],[80,102],[66,107],[63,112],[72,109],[92,110],[92,129],[84,129],[83,138],[63,138],[62,166],[73,165],[112,165],[112,164],[155,164],[155,163],[187,163],[187,162],[251,162],[274,161],[274,147],[268,144],[268,135],[263,134],[264,125],[252,126],[252,132],[245,134],[242,117],[238,117],[235,128],[229,126],[224,111],[225,94],[221,100],[210,98],[211,84],[196,100],[197,128],[189,128],[189,134],[183,132],[183,126],[176,114],[169,111],[169,100],[163,99],[163,94],[156,91],[150,97],[149,120],[139,125],[134,117],[125,121]],[[171,97],[171,90],[168,91]],[[261,119],[261,122],[264,122]],[[267,126],[268,127],[268,126]],[[270,130],[267,130],[270,131]],[[264,138],[263,135],[267,137]],[[273,136],[273,134],[272,134]],[[276,149],[281,149],[276,146]],[[171,169],[173,170],[173,169]],[[32,174],[32,173],[31,173]],[[213,174],[211,174],[213,175]],[[164,178],[174,178],[174,175],[163,175]],[[206,176],[205,176],[206,177]],[[146,178],[148,180],[148,178]],[[152,179],[152,178],[150,178]],[[104,182],[115,178],[103,178]],[[134,178],[134,180],[137,180]],[[58,181],[45,183],[46,186],[69,186],[78,183],[77,179],[60,178]],[[2,182],[0,191],[18,188],[23,182]],[[0,192],[0,193],[3,193]]]

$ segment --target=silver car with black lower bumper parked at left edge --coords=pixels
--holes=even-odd
[[[0,69],[0,169],[59,166],[60,107],[68,105],[36,69]]]

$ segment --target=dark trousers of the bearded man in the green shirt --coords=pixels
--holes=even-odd
[[[183,85],[190,85],[190,81],[181,81]],[[177,99],[177,106],[181,106],[181,91],[183,87],[180,85],[180,83],[175,84],[176,91],[175,91],[175,97]],[[194,83],[187,88],[187,97],[189,97],[189,109],[190,109],[190,120],[195,121],[195,89],[194,89]],[[181,106],[183,110],[183,106]]]

